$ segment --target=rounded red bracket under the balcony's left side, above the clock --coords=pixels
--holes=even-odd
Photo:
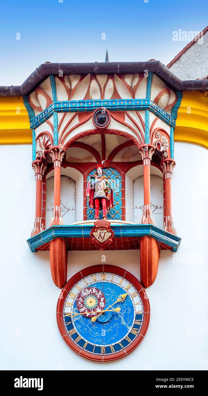
[[[68,250],[64,238],[56,238],[50,242],[50,264],[53,282],[60,289],[67,281]]]

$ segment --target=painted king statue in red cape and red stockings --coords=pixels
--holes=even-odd
[[[102,210],[103,219],[107,217],[107,209],[114,206],[113,189],[108,178],[103,174],[103,166],[96,166],[96,174],[89,178],[87,184],[87,198],[89,207],[95,209],[95,219],[99,219],[99,209]]]

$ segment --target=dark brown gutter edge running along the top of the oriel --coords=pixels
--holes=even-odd
[[[51,74],[111,74],[136,73],[148,70],[157,74],[176,91],[208,90],[208,80],[182,81],[160,61],[147,62],[94,62],[94,63],[43,63],[21,86],[0,86],[0,96],[28,95]]]

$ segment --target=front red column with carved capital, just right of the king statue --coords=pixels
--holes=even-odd
[[[155,147],[152,145],[142,145],[139,148],[139,152],[142,156],[144,166],[144,212],[140,224],[155,225],[150,202],[150,163],[152,155],[155,152]]]

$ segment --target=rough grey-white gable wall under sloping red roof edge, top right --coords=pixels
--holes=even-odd
[[[184,42],[184,46],[187,43]],[[196,80],[208,75],[208,32],[188,48],[169,69],[181,80]]]

